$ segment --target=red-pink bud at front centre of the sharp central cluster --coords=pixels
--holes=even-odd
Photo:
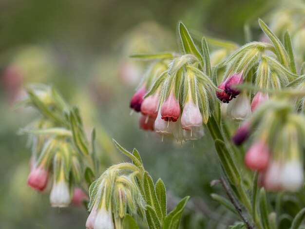
[[[161,106],[161,118],[164,121],[177,121],[180,115],[180,105],[173,92]]]

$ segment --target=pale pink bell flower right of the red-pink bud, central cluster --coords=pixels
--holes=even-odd
[[[187,131],[191,131],[192,127],[202,126],[202,115],[199,110],[198,101],[196,105],[191,99],[184,104],[183,112],[181,116],[182,128]]]

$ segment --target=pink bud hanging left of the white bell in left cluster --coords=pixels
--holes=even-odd
[[[43,191],[48,183],[48,171],[44,169],[43,165],[34,168],[27,180],[27,185],[38,191]]]

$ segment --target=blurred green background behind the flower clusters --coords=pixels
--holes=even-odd
[[[204,200],[204,210],[198,210],[191,199],[181,228],[215,227],[203,214],[222,212],[210,198],[221,189],[210,187],[219,168],[209,134],[180,145],[139,130],[129,99],[148,63],[128,56],[177,50],[179,20],[205,35],[243,44],[244,24],[258,38],[256,20],[274,6],[267,0],[0,0],[0,228],[85,227],[84,208],[53,209],[47,194],[26,186],[31,152],[17,131],[38,114],[13,102],[33,82],[56,86],[79,106],[88,130],[97,128],[104,168],[127,160],[111,138],[137,148],[154,181],[161,177],[174,198]]]

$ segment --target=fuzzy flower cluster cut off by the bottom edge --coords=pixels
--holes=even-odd
[[[110,167],[90,186],[87,229],[120,229],[126,214],[144,218],[145,202],[136,172],[124,174],[118,167],[122,164]]]

